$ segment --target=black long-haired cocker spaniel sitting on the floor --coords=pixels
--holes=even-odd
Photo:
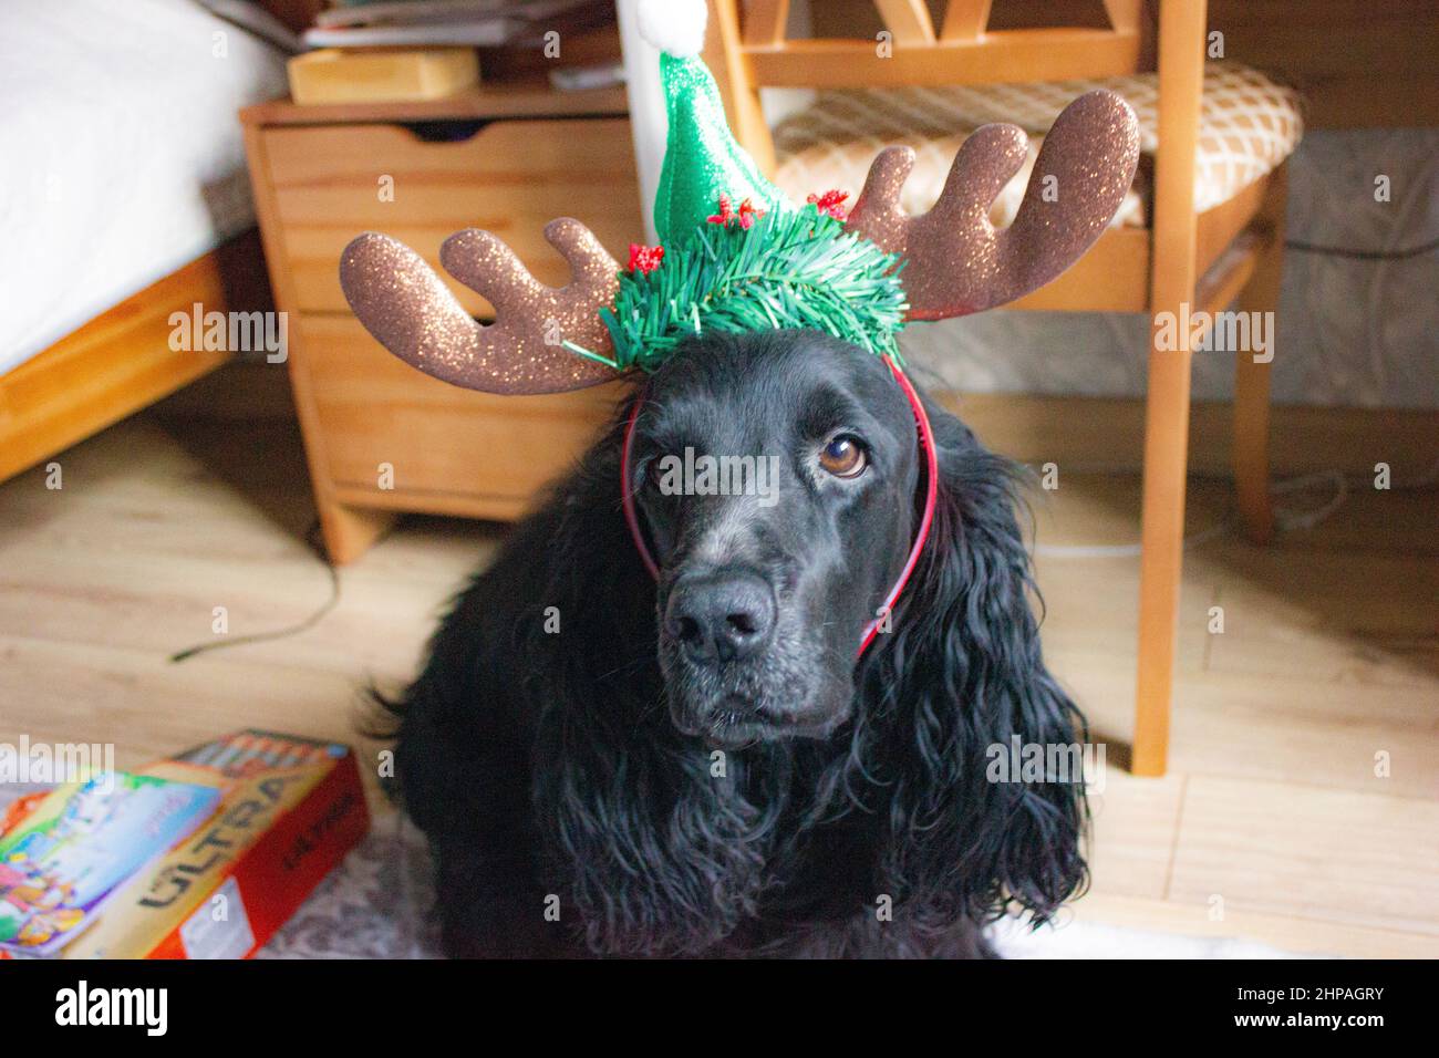
[[[658,580],[622,511],[625,487]],[[389,704],[452,954],[980,957],[987,921],[1082,887],[1082,777],[987,769],[1084,737],[1040,656],[1013,466],[925,407],[932,531],[858,661],[925,464],[852,345],[692,340],[515,528]],[[753,456],[730,466],[754,487],[704,456]]]

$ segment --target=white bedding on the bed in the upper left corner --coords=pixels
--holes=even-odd
[[[253,223],[236,111],[283,92],[190,0],[7,6],[0,374]]]

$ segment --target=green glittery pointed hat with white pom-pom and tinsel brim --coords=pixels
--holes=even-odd
[[[640,0],[640,35],[661,49],[669,134],[655,196],[659,248],[630,248],[614,307],[600,315],[613,367],[652,370],[702,331],[814,328],[896,354],[898,258],[845,230],[837,210],[796,206],[735,143],[699,52],[704,0]]]

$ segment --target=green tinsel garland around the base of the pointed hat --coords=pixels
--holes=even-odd
[[[896,262],[813,204],[766,213],[748,229],[702,225],[684,245],[666,246],[655,271],[620,275],[614,308],[600,311],[613,360],[564,344],[616,370],[652,371],[704,331],[813,328],[898,357],[908,302]]]

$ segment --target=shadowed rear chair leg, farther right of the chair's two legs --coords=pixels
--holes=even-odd
[[[1253,351],[1235,353],[1235,494],[1245,535],[1266,544],[1274,535],[1269,501],[1269,361],[1274,358],[1275,309],[1284,268],[1282,232],[1274,233],[1255,272],[1239,292],[1239,311],[1263,314],[1271,345],[1262,361]]]

